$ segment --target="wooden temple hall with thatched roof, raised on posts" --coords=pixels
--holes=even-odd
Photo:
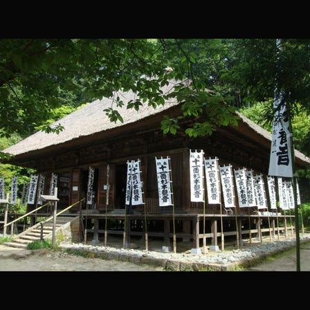
[[[171,84],[163,91],[170,89]],[[135,99],[131,92],[118,95],[124,102]],[[205,244],[219,250],[224,240],[242,244],[251,235],[284,234],[286,220],[293,215],[285,215],[283,206],[270,198],[268,131],[238,113],[237,127],[220,127],[212,136],[164,135],[161,120],[180,115],[179,102],[171,100],[156,109],[144,104],[138,112],[118,107],[122,123],[110,122],[105,115],[103,110],[111,104],[111,98],[95,100],[57,121],[64,127],[60,134],[38,131],[3,150],[14,155],[6,163],[33,168],[44,180],[42,188],[40,181],[33,187],[27,212],[40,206],[38,191],[51,195],[57,188],[57,211],[66,209],[62,215],[79,217],[79,241],[93,244],[102,244],[104,237],[109,243],[110,236],[119,236],[122,244],[125,235],[127,247],[133,240],[159,240],[170,250],[186,241],[199,253]],[[188,127],[188,122],[181,126]],[[211,162],[213,170],[207,171]],[[310,158],[295,150],[297,170],[309,163]],[[231,177],[221,176],[220,167]],[[252,199],[253,206],[241,206],[238,199],[236,173],[244,172],[253,175],[253,195],[260,197]],[[206,182],[211,179],[212,196]],[[232,190],[225,188],[226,181]],[[46,212],[48,206],[28,215],[28,225],[35,225]]]

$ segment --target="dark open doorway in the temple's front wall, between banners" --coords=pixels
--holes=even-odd
[[[116,165],[116,209],[125,209],[127,164]]]

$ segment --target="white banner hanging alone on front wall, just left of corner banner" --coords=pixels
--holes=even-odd
[[[159,206],[172,206],[172,181],[170,180],[170,157],[156,161]]]

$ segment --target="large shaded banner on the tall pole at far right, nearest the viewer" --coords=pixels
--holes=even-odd
[[[273,108],[278,109],[273,117],[273,131],[269,161],[270,176],[293,177],[293,163],[291,154],[291,133],[289,131],[289,117],[286,104],[282,104],[282,93],[273,102]]]

